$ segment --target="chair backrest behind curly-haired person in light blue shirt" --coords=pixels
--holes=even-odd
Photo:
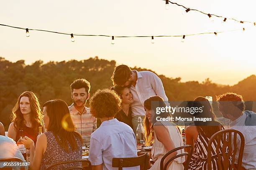
[[[127,167],[143,166],[143,170],[147,170],[147,165],[149,163],[148,153],[144,153],[141,156],[133,158],[113,158],[112,167],[118,168],[118,170],[123,170]]]

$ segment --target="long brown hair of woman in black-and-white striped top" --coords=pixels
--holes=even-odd
[[[195,114],[194,115],[195,117],[212,118],[212,121],[205,122],[205,124],[199,123],[197,125],[197,122],[195,122],[197,131],[200,134],[202,134],[202,133],[205,134],[207,136],[207,138],[211,138],[211,136],[214,133],[221,130],[220,126],[223,126],[223,124],[217,120],[216,115],[212,111],[212,106],[210,105],[210,102],[205,97],[201,97],[201,96],[197,97],[197,98],[195,98],[194,101],[200,102],[200,105],[202,105],[202,107],[204,107],[203,112],[200,114]]]

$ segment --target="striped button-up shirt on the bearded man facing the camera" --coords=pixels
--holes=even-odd
[[[82,135],[83,146],[90,145],[91,134],[97,129],[97,119],[92,117],[90,108],[84,106],[82,114],[74,107],[74,103],[69,106],[70,116],[76,127],[76,131]]]

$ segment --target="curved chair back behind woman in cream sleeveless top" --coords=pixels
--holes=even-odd
[[[164,165],[164,161],[165,159],[173,152],[177,151],[177,150],[181,150],[181,149],[184,149],[184,148],[188,148],[189,149],[189,153],[185,152],[185,153],[181,153],[179,155],[176,155],[174,157],[172,157],[171,159],[167,160],[167,162],[165,163]],[[189,165],[189,162],[190,162],[190,159],[191,159],[191,156],[192,156],[192,153],[193,153],[193,147],[191,145],[184,145],[184,146],[180,146],[178,148],[174,148],[173,150],[170,150],[168,153],[166,153],[162,159],[161,159],[161,162],[160,162],[160,170],[167,170],[167,167],[169,165],[169,163],[172,162],[172,160],[176,159],[176,158],[179,158],[179,157],[182,157],[182,156],[186,156],[187,155],[187,160],[186,160],[186,165],[184,167],[184,170],[187,170],[188,169],[188,165]]]

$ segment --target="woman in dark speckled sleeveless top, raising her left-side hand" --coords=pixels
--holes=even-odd
[[[34,142],[25,136],[21,142],[30,148],[30,169],[46,170],[54,163],[82,159],[82,137],[75,132],[67,103],[63,100],[50,100],[43,105],[46,133],[38,137],[36,149]],[[54,169],[69,168],[81,163],[58,165]]]

